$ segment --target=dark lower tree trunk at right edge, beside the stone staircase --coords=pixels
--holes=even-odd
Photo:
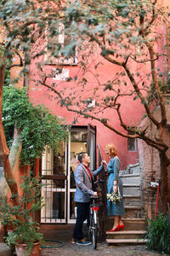
[[[160,152],[160,168],[161,168],[161,201],[163,204],[163,212],[167,214],[167,202],[170,202],[168,188],[168,159],[166,152]]]

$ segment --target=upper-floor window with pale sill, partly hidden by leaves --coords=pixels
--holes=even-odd
[[[67,55],[52,55],[51,52],[58,51],[60,49],[66,49],[67,46],[71,46],[71,36],[65,35],[65,27],[62,23],[59,23],[56,28],[56,35],[47,35],[47,53],[45,55],[46,64],[52,65],[77,65],[77,49],[76,46],[68,47]]]

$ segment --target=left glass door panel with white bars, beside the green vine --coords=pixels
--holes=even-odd
[[[59,143],[59,152],[46,146],[42,154],[41,223],[66,223],[66,160],[66,143]]]

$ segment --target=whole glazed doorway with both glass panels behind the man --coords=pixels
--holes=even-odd
[[[42,197],[45,207],[41,223],[71,224],[76,222],[74,172],[77,155],[88,152],[91,170],[96,168],[96,128],[93,125],[74,126],[65,143],[59,143],[59,152],[46,146],[42,155]]]

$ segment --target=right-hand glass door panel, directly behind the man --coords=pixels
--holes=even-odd
[[[89,127],[90,128],[90,127]],[[91,168],[96,168],[96,133],[95,128],[91,126],[75,126],[71,128],[69,147],[68,147],[68,205],[67,205],[67,220],[68,223],[76,222],[76,203],[74,194],[76,185],[74,180],[74,172],[79,164],[77,160],[78,154],[87,152],[91,157]]]

